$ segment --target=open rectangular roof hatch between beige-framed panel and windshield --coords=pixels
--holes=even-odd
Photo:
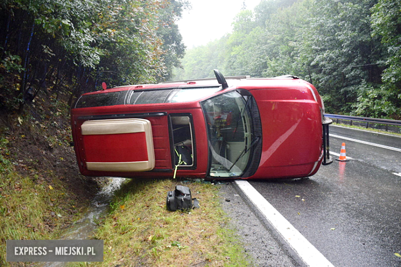
[[[191,115],[171,115],[173,131],[174,164],[179,167],[193,167],[195,145]]]

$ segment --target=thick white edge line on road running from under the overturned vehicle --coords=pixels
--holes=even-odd
[[[259,209],[266,220],[275,227],[277,232],[307,266],[334,267],[334,265],[289,223],[250,183],[244,180],[235,180],[235,183],[250,199],[253,205]]]

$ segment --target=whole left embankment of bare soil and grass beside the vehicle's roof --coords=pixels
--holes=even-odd
[[[65,101],[39,96],[0,116],[0,266],[29,265],[6,262],[6,240],[58,239],[96,193],[79,175],[67,114]]]

